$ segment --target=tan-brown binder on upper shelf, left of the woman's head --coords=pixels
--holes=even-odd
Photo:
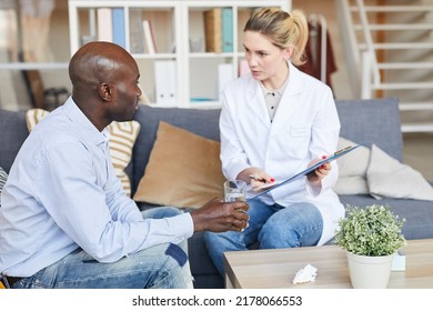
[[[213,8],[203,13],[207,52],[222,52],[222,9]]]

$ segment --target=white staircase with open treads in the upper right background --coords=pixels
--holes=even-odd
[[[400,99],[402,132],[433,132],[433,0],[335,0],[353,93]]]

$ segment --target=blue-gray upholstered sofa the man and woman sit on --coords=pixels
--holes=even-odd
[[[400,112],[396,99],[336,101],[342,124],[341,136],[370,147],[375,143],[383,151],[403,161]],[[132,161],[127,172],[135,191],[148,163],[160,120],[212,140],[219,140],[220,111],[202,109],[174,109],[140,107],[135,119],[141,123]],[[28,136],[23,112],[0,110],[0,167],[7,172]],[[211,198],[210,198],[211,199]],[[403,233],[406,239],[433,238],[433,202],[384,199],[377,201],[370,195],[341,195],[344,204],[364,207],[371,203],[389,203],[391,209],[406,219]],[[140,209],[152,204],[139,203]],[[223,279],[210,261],[203,241],[203,233],[197,232],[189,240],[189,255],[195,288],[223,288]]]

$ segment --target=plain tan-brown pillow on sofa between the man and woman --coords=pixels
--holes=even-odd
[[[135,201],[200,208],[222,197],[220,143],[160,122]]]

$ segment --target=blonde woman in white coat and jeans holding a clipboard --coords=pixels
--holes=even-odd
[[[221,161],[226,179],[259,188],[282,181],[335,152],[340,121],[331,89],[300,70],[309,30],[301,11],[260,8],[244,27],[251,74],[222,92]],[[253,178],[251,178],[253,177]],[[333,192],[336,163],[249,201],[243,232],[205,233],[209,254],[223,273],[223,252],[320,245],[333,237],[344,208]]]

